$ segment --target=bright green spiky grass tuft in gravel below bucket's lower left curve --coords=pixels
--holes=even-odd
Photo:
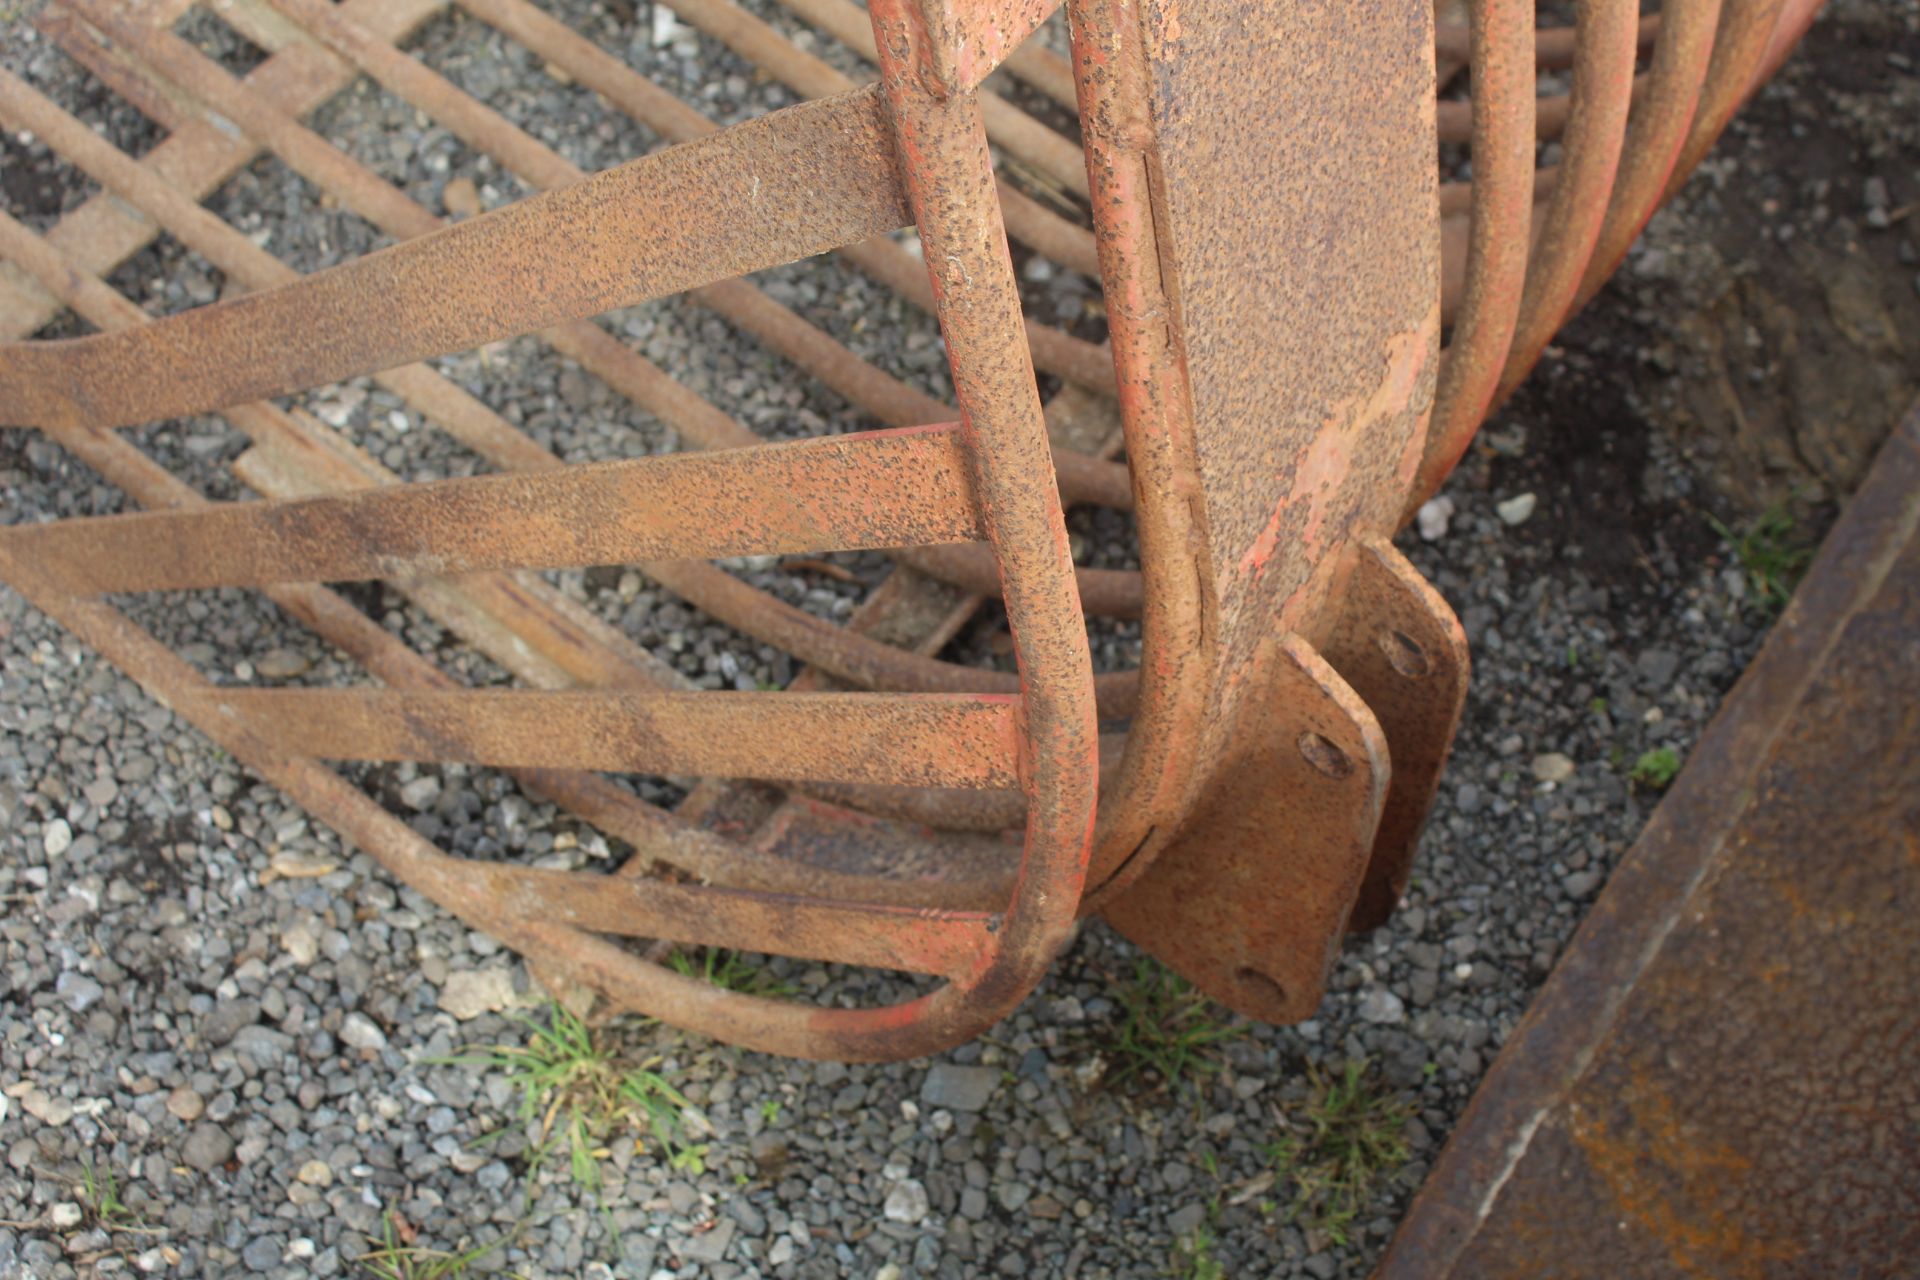
[[[559,1002],[547,1006],[545,1017],[518,1021],[528,1031],[524,1046],[493,1044],[449,1061],[499,1071],[520,1094],[520,1121],[538,1125],[530,1178],[555,1150],[564,1150],[574,1182],[597,1192],[599,1161],[620,1134],[651,1138],[676,1167],[687,1155],[705,1155],[705,1148],[676,1142],[687,1100],[653,1069],[657,1057],[628,1059]]]

